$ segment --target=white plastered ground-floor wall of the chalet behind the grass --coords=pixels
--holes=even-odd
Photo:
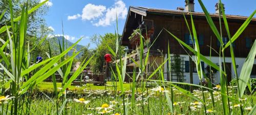
[[[170,55],[170,56],[173,56],[173,55]],[[165,57],[167,57],[167,54],[165,55]],[[188,55],[180,55],[180,57],[184,57],[184,60],[183,61],[189,61],[189,56]],[[192,56],[193,59],[195,59],[195,56]],[[205,56],[206,58],[210,59],[209,56]],[[165,58],[166,59],[166,58]],[[246,58],[239,58],[237,57],[236,58],[236,64],[238,65],[238,68],[237,68],[237,71],[238,71],[238,76],[240,75],[241,73],[241,69],[242,69],[242,66],[245,62],[245,59]],[[211,61],[213,63],[218,63],[220,64],[220,60],[219,60],[219,57],[211,57]],[[221,63],[223,62],[222,58],[221,58]],[[231,57],[225,57],[225,62],[228,62],[228,63],[231,63],[231,76],[232,76],[232,79],[235,78],[235,74],[234,74],[234,71],[233,71],[233,66],[232,66],[232,60],[231,60]],[[183,62],[185,64],[185,62]],[[256,64],[256,60],[254,59],[254,64]],[[204,67],[207,66],[207,63],[204,63]],[[167,72],[167,64],[164,65],[164,72]],[[206,71],[206,70],[205,70]],[[189,73],[186,73],[185,70],[184,70],[184,79],[185,79],[185,82],[187,83],[190,83],[190,79],[189,79]],[[220,83],[220,73],[217,72],[215,74],[215,80],[214,82],[216,84]],[[167,74],[164,74],[164,78],[167,79]],[[194,84],[199,84],[199,78],[198,78],[198,74],[197,73],[193,73],[193,82]]]

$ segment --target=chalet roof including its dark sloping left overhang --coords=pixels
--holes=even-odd
[[[203,12],[189,12],[184,10],[166,10],[166,9],[155,9],[155,8],[146,8],[146,7],[133,7],[130,6],[129,8],[129,14],[127,15],[123,33],[122,33],[122,45],[128,45],[129,39],[128,37],[133,33],[133,30],[135,30],[138,27],[138,20],[141,20],[140,16],[136,16],[131,18],[131,13],[139,14],[140,16],[148,16],[148,15],[158,15],[158,16],[182,16],[183,14],[185,16],[189,16],[190,13],[195,16],[195,18],[202,18],[205,19],[205,14]],[[219,14],[216,13],[210,13],[209,14],[213,20],[219,20]],[[240,15],[227,15],[226,18],[228,21],[234,21],[242,23],[244,22],[248,17],[247,16],[240,16]],[[256,18],[252,18],[251,22],[253,24],[256,24]]]

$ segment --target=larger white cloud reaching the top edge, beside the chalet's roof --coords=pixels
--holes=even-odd
[[[127,15],[127,8],[122,1],[117,1],[112,7],[106,10],[105,16],[100,18],[99,21],[94,24],[94,26],[109,26],[118,19],[125,19]]]

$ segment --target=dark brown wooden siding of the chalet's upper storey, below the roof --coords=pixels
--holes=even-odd
[[[154,20],[154,27],[155,27],[155,34],[156,37],[160,31],[165,28],[169,32],[173,33],[178,38],[184,40],[185,33],[189,33],[188,28],[185,24],[185,20],[183,17],[177,17],[177,16],[159,16],[159,15],[147,15],[146,17],[143,17],[143,19],[152,19]],[[187,17],[187,21],[190,25],[190,18]],[[194,18],[194,23],[196,27],[196,31],[198,34],[202,34],[204,36],[204,44],[200,46],[200,52],[201,54],[205,56],[209,56],[210,48],[207,45],[210,45],[213,49],[215,49],[217,52],[219,52],[219,47],[217,45],[217,37],[212,32],[211,28],[208,26],[208,22],[206,19],[196,19]],[[234,35],[234,33],[237,32],[237,30],[242,25],[242,22],[229,22],[229,31],[231,36]],[[215,25],[217,29],[220,29],[219,21],[215,20]],[[190,25],[191,26],[191,25]],[[190,27],[191,28],[191,27]],[[224,25],[222,25],[222,32],[223,37],[228,37]],[[246,48],[246,42],[245,38],[250,37],[255,40],[256,38],[256,24],[249,24],[248,27],[245,29],[245,31],[239,36],[239,38],[235,41],[235,47],[234,47],[234,54],[236,57],[247,57],[249,50]],[[252,42],[254,41],[252,40]],[[173,38],[171,35],[169,35],[166,31],[162,31],[162,33],[159,35],[158,39],[156,40],[153,50],[163,50],[164,53],[167,52],[167,44],[170,44],[170,52],[171,53],[178,53],[178,54],[187,54],[181,45],[177,42],[175,38]],[[185,48],[186,49],[186,48]],[[187,50],[187,49],[186,49]],[[218,56],[217,53],[212,51],[212,56]],[[230,56],[229,48],[225,50],[225,56]]]

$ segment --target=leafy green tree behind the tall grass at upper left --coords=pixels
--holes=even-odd
[[[24,5],[28,4],[28,9],[31,9],[40,3],[40,0],[35,1],[22,1],[22,0],[11,0],[13,5],[13,16],[14,18],[19,16],[22,12],[22,8]],[[28,3],[27,3],[28,2]],[[5,11],[4,16],[0,20],[0,28],[5,25],[10,25],[10,8],[9,8],[9,0],[1,0],[0,1],[0,14]],[[48,12],[49,7],[47,5],[43,5],[42,7],[38,8],[35,12],[29,14],[28,17],[28,28],[27,28],[27,36],[25,45],[27,46],[28,43],[30,44],[30,48],[34,47],[39,41],[48,36],[49,34],[53,33],[53,30],[49,29],[44,15]],[[6,32],[0,35],[0,38],[6,40],[7,34]],[[51,40],[50,40],[51,43]],[[3,45],[0,42],[0,46]],[[51,44],[52,47],[56,44]],[[48,40],[45,40],[41,44],[37,45],[37,48],[32,52],[33,56],[41,56],[44,59],[48,58],[45,52],[49,52],[49,43]],[[54,51],[52,51],[54,52]],[[34,59],[35,57],[32,57]]]

